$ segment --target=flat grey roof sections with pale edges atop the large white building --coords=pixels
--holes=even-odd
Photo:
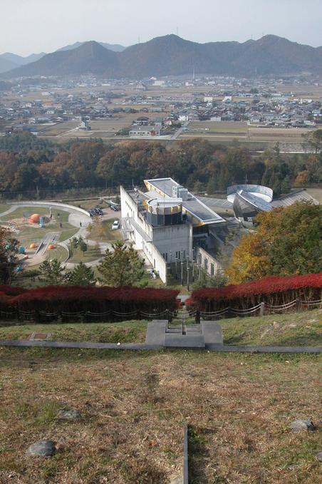
[[[147,190],[157,192],[159,197],[173,197],[173,187],[181,187],[179,183],[172,178],[155,178],[145,180]],[[199,198],[187,192],[187,200],[182,200],[182,209],[196,219],[199,225],[210,225],[225,222],[216,212],[211,210]]]

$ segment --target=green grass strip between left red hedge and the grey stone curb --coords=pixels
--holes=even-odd
[[[28,339],[33,331],[51,333],[50,341],[144,343],[147,321],[120,323],[26,324],[0,326],[0,339]]]

